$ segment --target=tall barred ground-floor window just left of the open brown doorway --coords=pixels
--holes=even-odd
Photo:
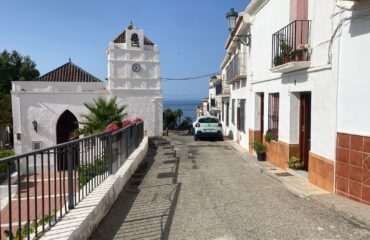
[[[272,133],[272,139],[279,137],[279,93],[271,93],[269,96],[268,131]]]

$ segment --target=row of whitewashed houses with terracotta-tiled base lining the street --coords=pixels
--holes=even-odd
[[[230,36],[221,64],[234,140],[250,152],[265,142],[267,161],[283,169],[299,157],[311,183],[368,204],[369,9],[368,0],[253,0],[231,34],[250,42]]]

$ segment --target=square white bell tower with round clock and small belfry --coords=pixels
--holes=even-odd
[[[128,105],[130,118],[144,119],[148,135],[160,135],[163,97],[158,46],[130,24],[109,43],[107,55],[107,89]]]

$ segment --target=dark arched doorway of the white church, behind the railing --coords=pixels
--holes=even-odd
[[[71,134],[78,129],[78,120],[69,110],[66,110],[58,119],[56,126],[57,144],[71,141]],[[78,151],[76,151],[78,157]],[[58,150],[58,170],[67,169],[67,155],[65,149]],[[78,159],[74,158],[74,162],[78,164]],[[77,164],[73,164],[76,166]]]

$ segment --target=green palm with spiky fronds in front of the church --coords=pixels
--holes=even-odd
[[[97,100],[94,99],[94,103],[84,103],[84,105],[89,110],[89,113],[81,115],[83,120],[79,124],[83,125],[83,127],[77,129],[73,134],[74,136],[103,132],[111,123],[117,124],[119,128],[122,128],[122,121],[127,116],[127,113],[123,111],[127,105],[119,106],[116,97],[112,97],[109,100],[99,97]]]

